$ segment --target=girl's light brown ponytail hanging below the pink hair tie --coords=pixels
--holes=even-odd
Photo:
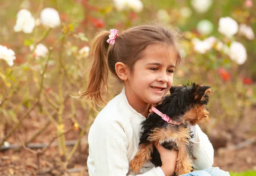
[[[108,40],[109,31],[100,32],[96,38],[94,38],[91,57],[93,58],[92,67],[90,69],[88,87],[85,92],[79,92],[80,95],[89,98],[92,102],[93,108],[95,105],[101,106],[105,103],[102,98],[102,89],[107,87],[108,89],[108,46],[106,40]]]

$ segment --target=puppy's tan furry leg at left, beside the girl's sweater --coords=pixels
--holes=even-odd
[[[143,164],[151,159],[151,153],[153,151],[153,144],[140,144],[139,150],[134,156],[134,159],[131,160],[129,166],[130,169],[134,172],[139,172],[140,168],[143,166]]]

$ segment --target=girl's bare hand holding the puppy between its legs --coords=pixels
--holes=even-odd
[[[168,150],[159,144],[155,144],[155,146],[160,153],[163,173],[165,176],[172,176],[176,167],[177,151]]]

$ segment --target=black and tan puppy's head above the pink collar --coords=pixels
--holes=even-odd
[[[209,86],[186,84],[171,87],[171,95],[162,101],[163,113],[177,122],[201,123],[208,118],[209,111],[205,107],[209,102],[207,93],[212,94]]]

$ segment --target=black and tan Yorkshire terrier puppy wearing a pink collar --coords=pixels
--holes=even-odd
[[[162,165],[154,143],[178,151],[174,175],[183,175],[193,170],[192,161],[196,158],[193,156],[193,135],[188,124],[202,123],[208,118],[209,111],[205,105],[209,101],[207,93],[212,94],[212,89],[191,83],[171,87],[170,92],[170,95],[163,97],[161,104],[152,107],[154,113],[142,122],[144,131],[140,137],[139,150],[129,164],[134,172],[139,172],[148,160],[156,167]]]

